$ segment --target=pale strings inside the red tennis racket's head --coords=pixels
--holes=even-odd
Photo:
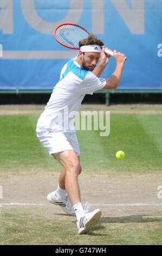
[[[63,25],[56,30],[56,37],[67,46],[79,48],[79,41],[88,38],[88,33],[74,25]]]

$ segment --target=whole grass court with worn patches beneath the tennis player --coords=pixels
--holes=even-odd
[[[63,215],[61,210],[46,202],[46,181],[49,178],[49,186],[52,179],[57,184],[62,167],[48,156],[48,151],[36,137],[36,122],[43,109],[31,109],[31,113],[25,114],[23,111],[17,111],[16,114],[1,113],[0,109],[0,185],[3,187],[3,198],[0,199],[1,245],[161,245],[162,199],[157,197],[157,187],[162,185],[162,109],[148,107],[134,111],[131,108],[122,108],[116,111],[110,108],[89,107],[81,110],[87,109],[110,110],[111,128],[107,137],[100,137],[100,131],[77,131],[81,151],[81,187],[86,187],[83,182],[86,177],[88,184],[92,184],[92,187],[89,186],[90,198],[91,193],[93,196],[93,181],[97,184],[99,180],[98,186],[101,187],[98,187],[97,201],[102,199],[105,191],[107,194],[107,199],[100,205],[103,210],[100,221],[87,235],[82,236],[77,234],[74,217]],[[15,111],[14,108],[10,110]],[[115,158],[118,150],[125,152],[124,160]],[[34,183],[35,179],[37,182]],[[44,203],[44,206],[11,205],[16,203],[16,199],[27,203],[20,190],[16,191],[16,187],[13,190],[12,181],[13,184],[20,184],[21,181],[27,183],[28,180],[30,182],[27,197],[30,190],[34,191],[30,184],[35,184],[35,189],[38,187],[37,191],[40,193],[40,198],[36,196],[38,203]],[[130,187],[127,187],[127,192],[124,192],[125,181],[126,184],[128,181],[132,182]],[[39,187],[40,182],[42,189]],[[139,201],[138,185],[140,189],[144,189],[145,194],[142,198],[141,191]],[[118,188],[122,190],[118,191]],[[118,197],[114,197],[113,191]],[[86,192],[81,190],[82,193],[83,198],[86,198]],[[125,211],[122,206],[115,206],[123,202],[124,195],[128,196],[128,193],[129,203],[142,202],[148,206],[125,206]],[[8,205],[4,205],[5,203]],[[106,207],[106,204],[114,206]]]

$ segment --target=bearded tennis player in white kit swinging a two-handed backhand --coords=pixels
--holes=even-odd
[[[82,207],[78,183],[78,175],[82,171],[80,149],[74,127],[75,117],[70,113],[79,111],[86,94],[118,87],[125,55],[114,51],[116,66],[113,74],[109,78],[100,78],[110,57],[104,52],[103,42],[89,34],[87,39],[79,42],[79,47],[79,55],[70,59],[61,70],[60,81],[37,121],[36,134],[49,155],[63,166],[59,185],[47,199],[51,204],[61,206],[66,214],[76,215],[78,233],[86,234],[99,221],[101,210],[88,212],[89,205],[86,209]]]

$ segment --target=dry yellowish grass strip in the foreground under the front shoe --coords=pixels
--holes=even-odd
[[[71,216],[51,219],[38,208],[16,206],[1,211],[0,245],[161,245],[158,217],[102,217],[88,234],[78,235]]]

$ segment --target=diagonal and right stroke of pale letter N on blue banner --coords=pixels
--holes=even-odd
[[[126,3],[126,0],[111,0],[119,11],[122,19],[125,21],[132,34],[145,33],[144,20],[144,0],[132,0],[132,8]]]

